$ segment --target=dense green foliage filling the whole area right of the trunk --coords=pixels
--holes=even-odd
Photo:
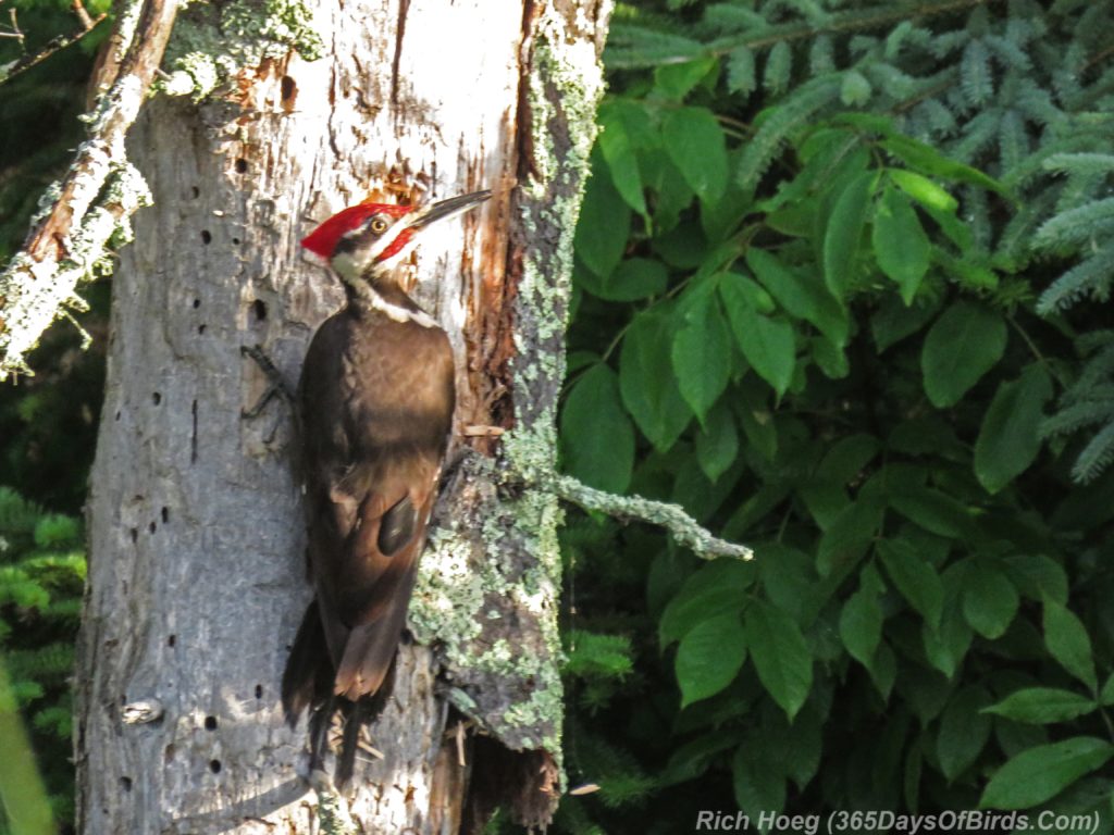
[[[568,765],[600,788],[565,831],[980,803],[1110,831],[1112,18],[619,7],[564,465],[756,558],[574,520]]]

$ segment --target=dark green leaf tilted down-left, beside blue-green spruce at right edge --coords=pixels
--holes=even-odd
[[[997,493],[1036,460],[1043,407],[1051,397],[1052,382],[1036,363],[998,386],[975,442],[975,475],[988,493]]]

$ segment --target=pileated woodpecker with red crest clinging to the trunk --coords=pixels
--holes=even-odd
[[[291,726],[311,708],[311,769],[321,768],[333,714],[342,710],[341,784],[361,726],[390,692],[456,400],[449,337],[407,295],[399,266],[424,229],[490,196],[423,209],[361,203],[302,240],[344,282],[348,304],[314,335],[299,383],[315,596],[282,699]]]

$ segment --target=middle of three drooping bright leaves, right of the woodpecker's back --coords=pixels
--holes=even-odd
[[[715,295],[704,294],[685,312],[673,337],[673,372],[681,396],[701,424],[727,387],[731,376],[731,334]]]

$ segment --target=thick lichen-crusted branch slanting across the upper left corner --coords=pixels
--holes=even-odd
[[[67,306],[82,306],[77,285],[92,274],[109,239],[140,206],[146,184],[127,161],[124,139],[139,114],[170,36],[178,0],[125,0],[114,30],[124,51],[111,87],[86,117],[89,138],[22,249],[0,272],[0,380],[30,373],[26,354]]]

